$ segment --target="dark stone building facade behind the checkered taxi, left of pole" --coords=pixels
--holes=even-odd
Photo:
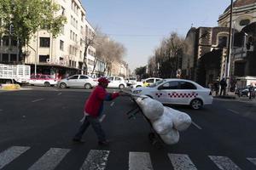
[[[227,27],[192,27],[185,38],[182,77],[203,86],[222,77],[228,40]]]

